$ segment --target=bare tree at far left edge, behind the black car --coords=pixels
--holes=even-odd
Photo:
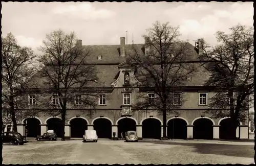
[[[6,114],[11,115],[13,130],[17,132],[17,120],[22,118],[23,112],[18,106],[22,91],[26,89],[26,81],[34,73],[34,68],[30,62],[35,58],[31,48],[22,47],[17,44],[15,37],[9,33],[2,37],[2,86],[3,101]]]

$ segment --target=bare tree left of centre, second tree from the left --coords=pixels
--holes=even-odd
[[[95,67],[86,63],[90,50],[77,46],[75,39],[73,32],[65,34],[61,30],[54,31],[46,35],[46,40],[39,49],[44,53],[39,62],[45,66],[39,71],[40,77],[46,78],[45,84],[49,85],[44,90],[46,95],[54,95],[51,97],[52,102],[47,101],[53,110],[48,113],[61,116],[61,140],[65,140],[69,104],[79,100],[82,109],[91,109],[94,108],[96,99],[95,91],[88,87],[97,80]]]

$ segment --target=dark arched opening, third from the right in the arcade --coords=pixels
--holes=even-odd
[[[169,139],[187,139],[187,123],[181,118],[173,118],[167,123]]]

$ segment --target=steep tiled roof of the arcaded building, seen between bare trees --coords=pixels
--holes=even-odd
[[[183,43],[184,44],[184,43]],[[177,46],[180,44],[177,43]],[[97,69],[97,76],[98,76],[98,84],[91,85],[101,86],[103,87],[111,87],[111,83],[117,79],[119,73],[119,67],[125,67],[126,64],[126,57],[120,56],[120,45],[82,45],[82,49],[88,51],[90,50],[89,56],[87,58],[87,63],[94,64]],[[126,44],[125,45],[125,55],[128,56],[130,54],[135,53],[134,49],[140,55],[144,55],[144,44]],[[186,49],[189,53],[189,57],[187,60],[198,60],[199,57],[197,51],[195,50],[195,46],[191,45],[190,43],[186,43]],[[98,59],[98,56],[101,55],[102,58]],[[201,76],[201,77],[200,77]],[[205,73],[202,72],[198,81],[190,81],[188,82],[189,85],[202,85],[203,80],[206,79]],[[39,79],[39,80],[38,80]],[[197,80],[196,78],[194,78]],[[32,79],[32,82],[36,84],[38,87],[49,87],[46,85],[44,81],[46,78],[39,78],[35,77]]]

